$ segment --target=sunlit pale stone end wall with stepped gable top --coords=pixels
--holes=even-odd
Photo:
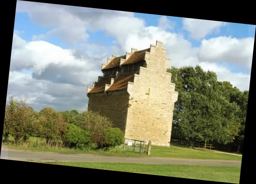
[[[174,103],[178,93],[171,84],[171,74],[162,43],[151,45],[146,54],[147,68],[140,68],[134,83],[128,85],[130,94],[125,137],[152,140],[152,145],[170,145]]]

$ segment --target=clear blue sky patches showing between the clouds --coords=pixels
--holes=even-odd
[[[158,26],[157,20],[162,15],[134,13],[134,16],[144,19],[146,22],[146,26]],[[171,17],[171,16],[167,16],[167,18],[170,21],[174,21],[176,23],[176,26],[173,31],[176,33],[180,33],[182,30],[182,18]],[[33,35],[40,35],[42,33],[47,33],[52,28],[53,27],[42,27],[38,24],[35,24],[29,19],[29,16],[27,13],[16,13],[14,29],[18,31],[24,31],[24,33],[22,33],[20,37],[26,41],[32,41]],[[96,31],[96,32],[87,31],[87,33],[89,33],[90,35],[87,43],[97,43],[97,44],[104,44],[105,46],[111,46],[113,45],[113,41],[115,41],[114,37],[107,37],[105,31]],[[190,39],[188,36],[189,33],[186,31],[182,31],[182,33],[185,39],[190,40],[192,46],[194,47],[200,46],[201,40]],[[228,26],[220,28],[220,32],[218,33],[213,32],[207,35],[205,39],[210,39],[210,38],[219,37],[219,36],[231,36],[238,39],[246,38],[246,37],[254,37],[255,27],[254,25],[228,23]],[[72,47],[71,45],[64,44],[62,42],[61,37],[54,37],[54,38],[51,37],[44,40],[54,45],[58,45],[63,49],[68,49]],[[222,62],[220,63],[223,64]],[[225,64],[224,62],[224,65],[227,65],[227,64]],[[248,73],[246,69],[243,67],[236,67],[235,65],[232,65],[232,64],[228,64],[228,65],[230,65],[230,69],[232,70],[232,72]]]

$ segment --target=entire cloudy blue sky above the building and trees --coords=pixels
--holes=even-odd
[[[218,80],[249,89],[254,25],[127,12],[109,15],[101,10],[83,15],[76,14],[76,7],[63,7],[17,1],[7,96],[28,98],[36,110],[49,105],[81,111],[88,103],[86,88],[102,75],[107,57],[123,55],[131,47],[146,49],[156,40],[166,41],[171,66],[199,64],[215,71]]]

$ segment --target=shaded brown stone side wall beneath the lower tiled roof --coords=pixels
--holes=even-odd
[[[114,127],[125,131],[129,94],[127,91],[90,94],[88,110],[109,117]]]

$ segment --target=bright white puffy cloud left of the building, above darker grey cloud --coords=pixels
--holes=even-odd
[[[88,82],[85,80],[86,75],[93,73],[93,67],[101,64],[101,58],[76,58],[74,50],[62,49],[45,41],[27,43],[14,34],[13,42],[16,45],[12,50],[10,71],[33,68],[36,75],[44,76],[42,73],[47,73],[50,70],[55,72],[55,74],[51,74],[51,77],[56,77],[57,74],[64,75],[61,73],[62,71],[65,72],[65,70],[72,68],[72,71],[65,75],[68,75],[74,83],[85,85]],[[92,64],[91,61],[95,61],[95,59],[97,62]]]

